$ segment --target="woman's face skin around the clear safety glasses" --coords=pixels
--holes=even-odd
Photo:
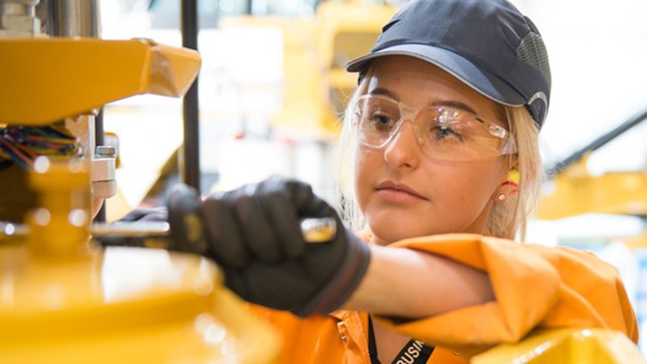
[[[503,126],[501,107],[430,63],[407,56],[380,58],[368,94],[408,106],[465,105]],[[377,244],[443,233],[485,233],[489,211],[507,177],[505,156],[437,161],[423,154],[411,122],[383,148],[358,146],[356,194]]]

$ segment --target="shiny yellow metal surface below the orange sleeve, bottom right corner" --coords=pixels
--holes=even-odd
[[[643,364],[637,347],[620,332],[559,329],[536,332],[475,356],[471,364]]]

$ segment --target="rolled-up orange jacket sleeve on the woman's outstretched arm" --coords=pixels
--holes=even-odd
[[[402,334],[465,352],[514,343],[536,327],[611,328],[637,343],[635,315],[619,272],[592,253],[474,234],[414,238],[391,246],[446,256],[485,271],[496,297],[404,323],[382,317]]]

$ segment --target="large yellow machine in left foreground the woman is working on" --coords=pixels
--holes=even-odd
[[[91,189],[109,181],[93,174],[114,168],[114,155],[92,153],[96,109],[142,93],[182,96],[199,55],[150,40],[48,38],[37,2],[0,1],[0,128],[60,120],[83,145],[29,159],[36,208],[26,225],[0,223],[0,363],[267,363],[276,337],[223,288],[212,262],[91,240]],[[6,168],[0,180],[18,174]]]

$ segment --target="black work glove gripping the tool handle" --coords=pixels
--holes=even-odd
[[[249,302],[300,316],[331,312],[355,291],[369,264],[368,245],[294,179],[271,177],[214,194],[202,214],[206,255],[222,267],[226,286]],[[336,220],[331,241],[304,241],[300,219],[313,217]]]

